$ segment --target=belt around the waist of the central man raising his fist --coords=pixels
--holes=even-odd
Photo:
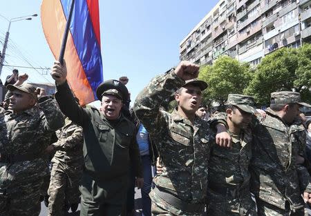
[[[167,202],[171,206],[174,206],[174,207],[176,207],[182,211],[188,212],[188,213],[201,213],[202,210],[205,208],[204,203],[202,203],[202,204],[200,204],[200,203],[189,204],[187,202],[184,202],[184,201],[178,199],[174,195],[171,195],[170,193],[166,193],[166,192],[160,190],[157,187],[154,188],[153,191],[156,193],[156,195],[158,195],[158,197],[163,199],[165,202]]]

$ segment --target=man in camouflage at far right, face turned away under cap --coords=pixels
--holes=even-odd
[[[300,106],[310,107],[301,102],[298,92],[272,92],[267,116],[251,124],[250,188],[258,215],[304,215],[309,175],[301,166],[305,131],[299,119]]]

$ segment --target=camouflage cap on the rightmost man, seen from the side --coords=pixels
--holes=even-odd
[[[301,106],[311,107],[310,104],[301,102],[299,92],[290,91],[272,92],[270,104],[299,104]]]

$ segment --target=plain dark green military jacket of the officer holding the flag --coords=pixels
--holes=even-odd
[[[120,115],[111,124],[97,108],[78,106],[67,83],[57,86],[55,97],[62,112],[83,128],[84,170],[89,175],[97,180],[126,181],[131,159],[135,176],[142,177],[135,125],[129,119]]]

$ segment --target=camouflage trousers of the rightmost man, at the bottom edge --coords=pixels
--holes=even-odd
[[[281,209],[267,202],[263,202],[260,199],[256,200],[258,208],[258,216],[304,216],[304,208],[297,209],[295,212],[288,209]]]

